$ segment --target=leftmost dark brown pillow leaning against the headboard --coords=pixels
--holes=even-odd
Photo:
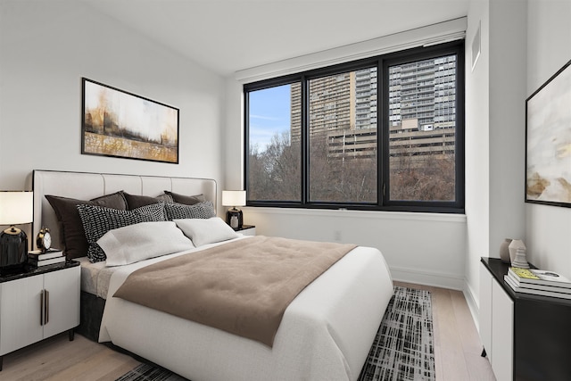
[[[123,192],[102,195],[92,200],[78,200],[57,195],[46,195],[46,199],[54,208],[55,216],[60,221],[62,227],[60,239],[63,244],[63,250],[69,259],[85,257],[89,247],[81,219],[79,218],[77,209],[79,204],[99,205],[122,211],[127,209]]]

